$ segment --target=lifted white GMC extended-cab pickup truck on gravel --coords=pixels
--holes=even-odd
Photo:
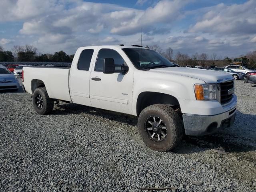
[[[232,75],[178,67],[135,45],[81,47],[70,68],[24,66],[22,78],[38,114],[60,100],[138,116],[143,141],[158,151],[230,127],[236,114]]]

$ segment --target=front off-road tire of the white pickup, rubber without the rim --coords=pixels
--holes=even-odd
[[[166,138],[161,142],[152,140],[146,132],[146,121],[150,116],[158,116],[166,125]],[[164,104],[154,104],[142,110],[138,118],[138,130],[146,146],[160,152],[175,148],[182,140],[184,133],[182,120],[178,113]]]

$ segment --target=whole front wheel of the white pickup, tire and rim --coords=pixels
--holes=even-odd
[[[178,113],[163,104],[151,105],[142,110],[138,118],[138,129],[146,146],[161,152],[176,147],[183,135]]]

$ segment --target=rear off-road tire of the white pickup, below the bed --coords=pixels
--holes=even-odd
[[[36,103],[37,102],[36,99],[39,95],[42,96],[42,100],[43,100],[42,108],[39,108]],[[33,100],[33,107],[38,114],[46,115],[52,112],[54,100],[48,96],[48,93],[45,87],[37,88],[33,93],[32,100]]]

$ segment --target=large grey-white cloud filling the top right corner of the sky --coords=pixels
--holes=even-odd
[[[189,32],[209,34],[255,34],[256,1],[248,0],[244,4],[218,4],[199,19]]]

